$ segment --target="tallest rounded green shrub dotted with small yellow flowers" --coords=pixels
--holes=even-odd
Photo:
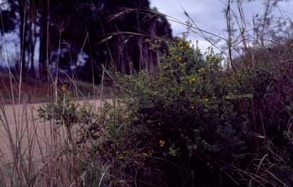
[[[130,133],[135,140],[130,140],[140,142],[135,149],[155,153],[147,164],[163,172],[162,180],[174,186],[202,185],[211,179],[216,184],[220,162],[246,149],[238,128],[247,121],[236,107],[251,96],[231,89],[222,59],[213,50],[203,56],[179,39],[169,52],[157,77],[145,71],[117,76],[123,88],[119,98],[132,119],[128,128],[135,129]],[[172,170],[170,163],[176,165]]]

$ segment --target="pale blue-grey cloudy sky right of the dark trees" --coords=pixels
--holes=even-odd
[[[160,13],[186,22],[187,18],[183,13],[184,8],[200,29],[227,38],[225,33],[227,24],[225,13],[223,12],[225,6],[226,0],[151,0],[151,8],[158,8]],[[232,3],[232,10],[237,12],[235,3]],[[252,23],[253,16],[264,13],[264,0],[243,3],[243,12],[246,24],[249,26]],[[282,15],[285,18],[290,17],[293,20],[293,1],[279,2],[273,14]],[[174,22],[170,22],[170,24],[172,25],[174,36],[182,36],[181,33],[186,31],[186,28],[180,24]],[[199,47],[202,50],[206,50],[207,47],[211,46],[200,34],[190,33],[188,39],[192,40],[193,43],[198,40]]]

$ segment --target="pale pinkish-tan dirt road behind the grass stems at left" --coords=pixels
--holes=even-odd
[[[80,104],[85,101],[80,101]],[[100,107],[100,100],[89,100],[96,107]],[[42,103],[43,104],[43,103]],[[38,117],[38,107],[42,105],[4,105],[0,106],[0,161],[1,163],[9,163],[14,160],[13,155],[24,154],[24,158],[33,158],[36,162],[41,162],[42,159],[51,153],[54,140],[61,139],[62,134],[59,132],[59,137],[52,135],[54,124],[49,121],[42,121]],[[55,128],[56,129],[56,128]],[[60,129],[59,130],[63,130]],[[13,142],[13,144],[11,143]],[[21,152],[15,152],[15,148]]]

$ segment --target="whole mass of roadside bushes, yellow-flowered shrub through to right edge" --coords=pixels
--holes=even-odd
[[[61,99],[42,117],[78,127],[77,142],[91,142],[89,160],[98,156],[108,173],[105,185],[290,186],[292,65],[232,71],[213,50],[190,45],[170,43],[157,76],[113,75],[113,103],[97,113]]]

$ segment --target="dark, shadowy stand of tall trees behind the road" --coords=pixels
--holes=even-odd
[[[0,7],[1,31],[20,39],[20,55],[9,63],[29,76],[59,69],[92,80],[103,66],[123,73],[156,71],[166,48],[156,39],[172,38],[166,18],[146,0],[6,0]]]

